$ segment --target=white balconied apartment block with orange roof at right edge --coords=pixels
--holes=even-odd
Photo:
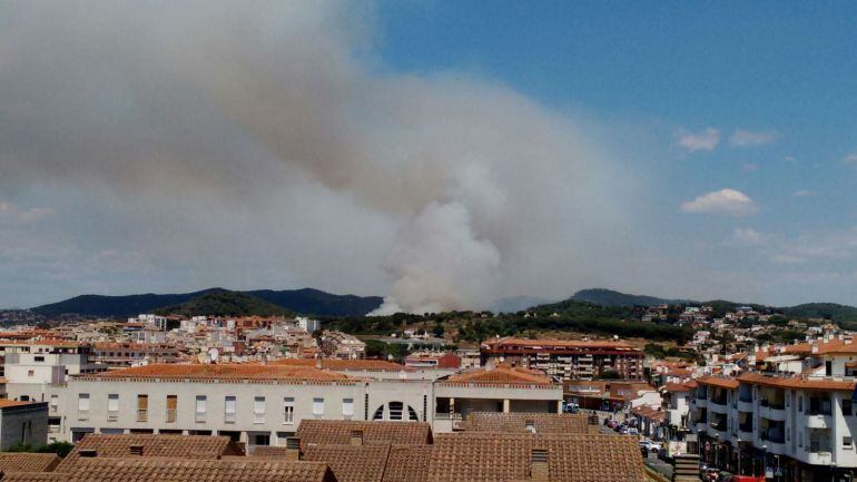
[[[775,481],[851,480],[857,401],[850,365],[857,365],[857,350],[845,338],[787,348],[780,353],[809,355],[800,373],[697,380],[691,429],[699,452],[717,466]]]

